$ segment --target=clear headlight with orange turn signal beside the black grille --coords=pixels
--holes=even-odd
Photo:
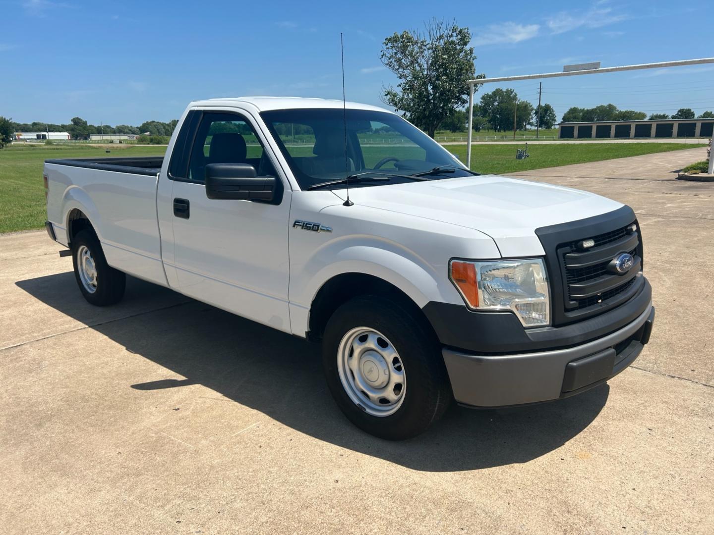
[[[473,310],[511,310],[523,327],[550,325],[550,293],[540,258],[451,260],[449,278]]]

